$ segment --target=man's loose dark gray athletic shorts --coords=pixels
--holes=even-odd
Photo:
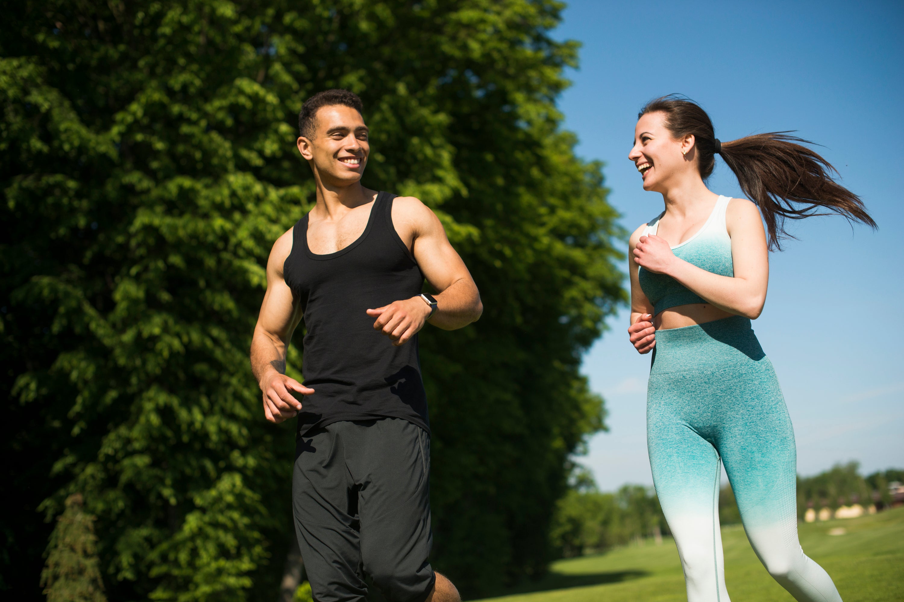
[[[428,555],[430,438],[409,421],[334,422],[297,440],[295,528],[316,602],[422,602]]]

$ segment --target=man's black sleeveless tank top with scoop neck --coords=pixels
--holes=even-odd
[[[373,329],[366,310],[420,294],[424,275],[392,225],[380,192],[364,233],[327,255],[307,246],[307,216],[292,231],[283,274],[304,312],[302,372],[314,394],[300,398],[297,436],[338,421],[401,418],[429,431],[418,336],[401,347]]]

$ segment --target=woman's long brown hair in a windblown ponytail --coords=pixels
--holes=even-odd
[[[740,189],[759,206],[766,222],[770,249],[781,250],[786,219],[803,219],[836,213],[852,221],[876,227],[863,201],[834,181],[838,173],[804,144],[813,144],[787,132],[752,134],[720,143],[710,116],[692,100],[669,95],[654,98],[640,110],[663,113],[665,127],[675,139],[693,134],[697,165],[704,180],[710,177],[718,153],[738,177]],[[818,213],[820,208],[828,213]]]

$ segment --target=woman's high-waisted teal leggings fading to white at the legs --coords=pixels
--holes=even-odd
[[[734,316],[656,331],[646,402],[656,494],[689,602],[728,602],[719,532],[720,462],[759,560],[797,600],[841,602],[797,541],[796,449],[772,364]]]

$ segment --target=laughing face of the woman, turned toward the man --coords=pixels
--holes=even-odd
[[[692,163],[693,136],[689,140],[674,140],[665,129],[664,113],[647,113],[637,120],[634,147],[627,158],[633,162],[644,180],[644,190],[664,192],[669,182]],[[682,154],[687,152],[687,156]]]

